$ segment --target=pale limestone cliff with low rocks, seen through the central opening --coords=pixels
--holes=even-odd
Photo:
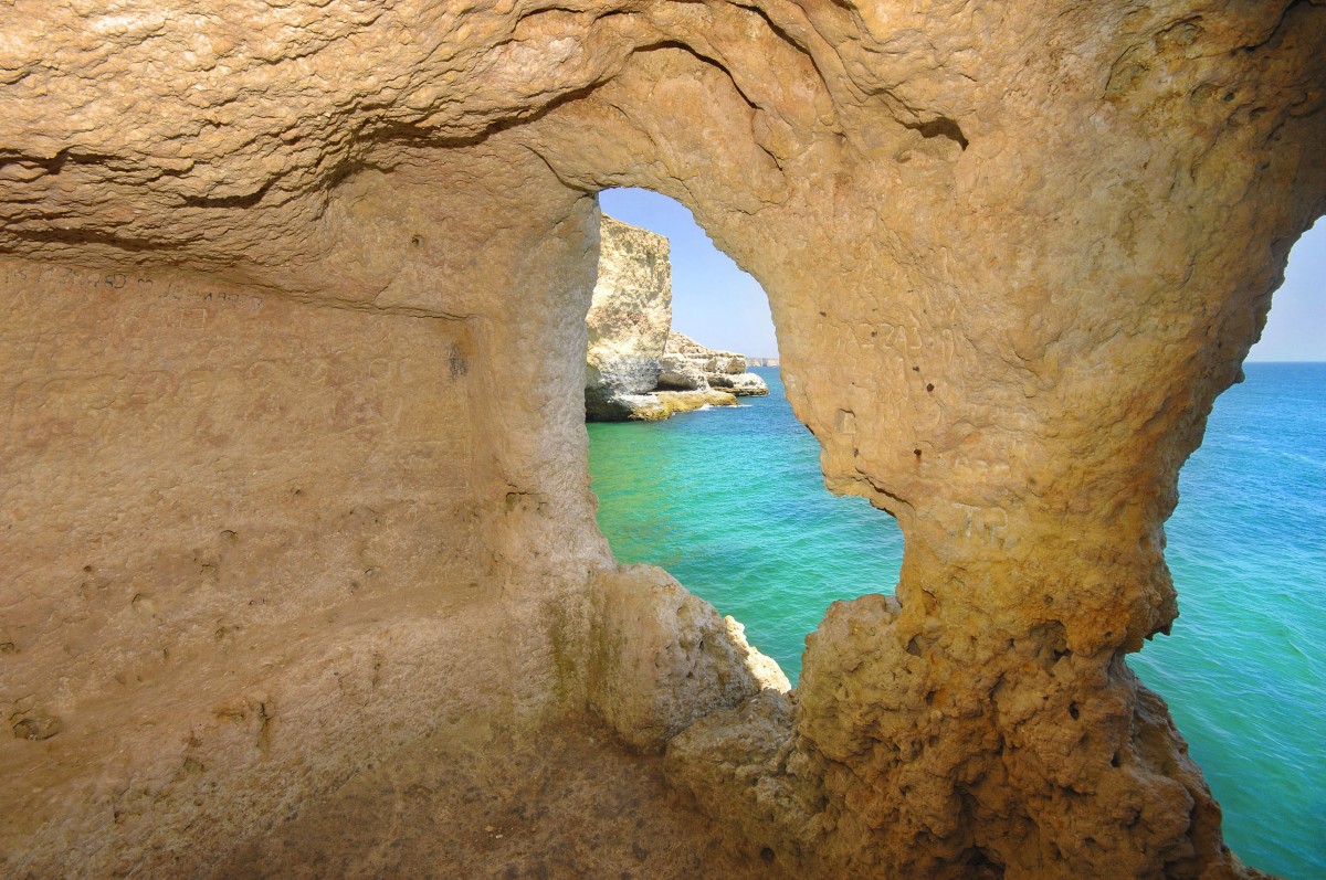
[[[598,280],[585,321],[585,417],[656,421],[769,394],[747,358],[671,333],[672,265],[664,236],[603,216]]]

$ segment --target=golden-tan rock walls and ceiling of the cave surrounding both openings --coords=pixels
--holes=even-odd
[[[761,282],[827,485],[907,542],[792,698],[670,740],[676,783],[801,876],[1241,872],[1124,656],[1326,211],[1326,8],[16,0],[0,33],[7,876],[206,875],[426,729],[589,705],[610,186]]]

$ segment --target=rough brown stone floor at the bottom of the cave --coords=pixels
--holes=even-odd
[[[520,741],[487,728],[432,733],[365,766],[227,859],[213,880],[446,877],[680,880],[782,877],[725,846],[595,722]]]

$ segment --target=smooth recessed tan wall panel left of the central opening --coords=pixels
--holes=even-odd
[[[42,864],[25,823],[80,777],[93,815],[150,838],[163,787],[280,767],[300,720],[335,728],[386,687],[382,645],[351,656],[378,620],[469,637],[447,626],[484,600],[460,322],[17,261],[0,315],[0,773],[36,799],[0,820],[13,869]]]

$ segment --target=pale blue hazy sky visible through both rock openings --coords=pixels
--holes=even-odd
[[[711,349],[777,355],[769,300],[754,278],[719,252],[691,212],[647,190],[607,190],[606,213],[672,243],[672,327]],[[1249,360],[1326,360],[1326,220],[1289,254],[1261,342]]]

